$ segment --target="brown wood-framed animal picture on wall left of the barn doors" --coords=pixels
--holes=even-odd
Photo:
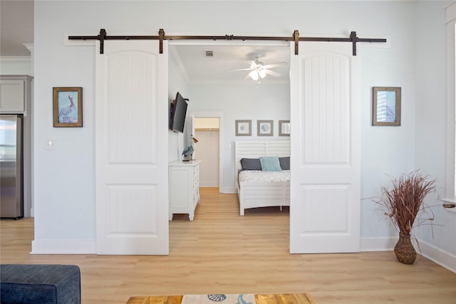
[[[83,88],[52,88],[54,127],[83,126]]]

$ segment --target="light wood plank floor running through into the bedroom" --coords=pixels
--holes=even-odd
[[[309,293],[315,303],[456,303],[456,274],[393,252],[289,254],[289,213],[239,216],[236,194],[202,188],[195,221],[170,221],[169,256],[30,255],[33,219],[1,221],[1,263],[81,267],[83,303],[133,295]]]

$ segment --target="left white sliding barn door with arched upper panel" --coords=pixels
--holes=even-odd
[[[98,254],[168,254],[167,41],[95,53]]]

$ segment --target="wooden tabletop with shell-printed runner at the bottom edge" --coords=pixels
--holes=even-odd
[[[209,295],[150,295],[128,299],[127,304],[314,304],[308,293],[269,295],[209,294]]]

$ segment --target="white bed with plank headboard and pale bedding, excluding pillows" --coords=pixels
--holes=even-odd
[[[239,182],[238,176],[238,173],[242,170],[242,158],[259,158],[265,156],[289,157],[290,141],[237,141],[235,142],[234,150],[236,163],[235,179],[237,195],[239,197],[240,214],[243,216],[244,210],[249,208],[290,206],[290,182],[269,182],[262,177],[260,177],[261,180],[256,182]],[[270,173],[271,172],[269,172],[269,174]],[[283,175],[286,174],[286,172],[279,172],[279,174]]]

